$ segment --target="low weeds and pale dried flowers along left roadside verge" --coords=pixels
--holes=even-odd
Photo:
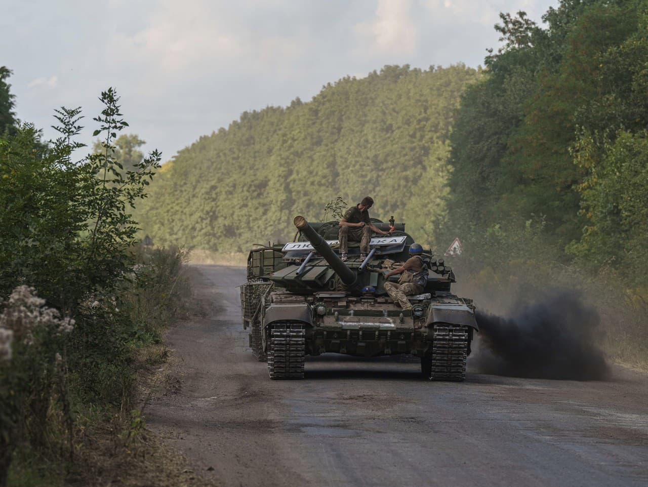
[[[119,402],[86,402],[87,395],[79,385],[85,372],[56,368],[62,363],[62,358],[54,352],[59,345],[51,338],[57,333],[71,332],[66,328],[71,326],[70,321],[56,318],[56,312],[46,308],[44,300],[32,295],[33,289],[17,289],[12,298],[14,306],[5,308],[5,316],[11,317],[12,321],[8,323],[5,319],[1,323],[3,329],[16,330],[12,338],[17,341],[12,341],[12,352],[24,356],[23,362],[12,361],[10,364],[32,370],[41,379],[38,382],[34,379],[25,381],[24,374],[12,374],[12,378],[21,380],[23,386],[12,382],[9,391],[3,390],[3,399],[14,398],[14,413],[22,411],[14,414],[17,427],[12,429],[12,451],[8,452],[8,459],[12,460],[8,485],[98,486],[115,481],[122,485],[141,485],[143,482],[185,485],[194,480],[190,478],[194,475],[188,473],[183,458],[169,451],[156,435],[146,431],[142,404],[137,400],[139,394],[136,394],[138,381],[145,390],[159,387],[152,383],[152,370],[165,363],[168,357],[163,334],[170,323],[191,310],[191,289],[183,266],[187,253],[181,249],[135,250],[137,264],[119,291],[107,302],[94,299],[86,304],[100,314],[108,313],[115,317],[119,313],[120,320],[132,326],[132,333],[124,344],[128,354],[119,366],[126,368],[119,370],[119,377],[109,379],[108,374],[117,369],[115,365],[105,363],[106,370],[101,374],[110,394],[121,394]],[[54,318],[46,321],[43,316]],[[25,342],[28,333],[29,343]],[[37,340],[34,337],[41,338]],[[29,354],[25,353],[25,348],[29,348]],[[46,353],[49,348],[51,354]],[[43,357],[50,355],[50,372],[43,375],[38,370],[45,369],[32,364],[32,361],[38,359],[42,362]],[[29,367],[25,365],[26,360],[30,360]],[[95,365],[101,367],[100,363]],[[4,372],[3,377],[9,378],[7,371]],[[62,379],[69,383],[67,394],[57,389]],[[167,379],[168,385],[163,387],[168,387],[171,392],[177,391],[177,379]],[[115,387],[116,383],[119,387]],[[102,396],[98,394],[97,397]],[[64,399],[71,403],[65,405]],[[4,407],[3,411],[6,411]],[[35,438],[34,433],[40,437]],[[155,465],[150,464],[151,460]]]

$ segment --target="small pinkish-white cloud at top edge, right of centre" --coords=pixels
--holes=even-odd
[[[417,45],[417,29],[411,16],[411,0],[379,0],[375,18],[356,24],[376,54],[412,54]]]

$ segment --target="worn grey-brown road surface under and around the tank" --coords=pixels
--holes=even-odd
[[[240,324],[244,269],[197,270],[208,317],[170,331],[183,385],[146,418],[220,484],[648,484],[644,374],[516,379],[469,358],[464,383],[433,383],[418,362],[332,355],[308,359],[304,380],[271,381]]]

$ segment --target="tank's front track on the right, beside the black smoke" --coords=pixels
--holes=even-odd
[[[434,326],[432,380],[461,382],[466,378],[468,327],[441,323]]]

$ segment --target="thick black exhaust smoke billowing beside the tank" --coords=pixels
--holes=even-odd
[[[476,312],[481,372],[501,376],[596,380],[608,374],[598,313],[573,293],[514,307],[510,319]]]

